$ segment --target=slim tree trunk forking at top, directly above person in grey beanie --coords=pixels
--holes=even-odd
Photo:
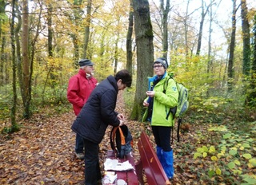
[[[166,0],[166,8],[164,8],[164,1],[160,1],[160,8],[162,10],[162,57],[167,59],[168,56],[168,14],[170,12],[170,0]]]

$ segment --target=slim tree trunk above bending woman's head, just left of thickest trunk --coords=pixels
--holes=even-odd
[[[134,26],[134,13],[132,11],[133,2],[130,0],[129,26],[126,36],[126,69],[133,74],[133,51],[132,51],[132,35]]]

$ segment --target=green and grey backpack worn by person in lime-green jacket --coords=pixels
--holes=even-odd
[[[170,78],[174,80],[174,78],[170,76],[165,81],[165,84],[163,85],[162,93],[166,93],[166,87],[168,86],[168,82]],[[177,81],[175,81],[175,83],[178,89],[178,105],[174,108],[170,108],[170,111],[168,112],[167,117],[170,115],[170,113],[172,113],[173,118],[178,118],[177,138],[179,142],[179,130],[182,124],[182,116],[184,116],[185,112],[189,108],[189,92],[188,92],[188,89],[186,89],[186,87],[182,85],[182,83],[178,83]]]

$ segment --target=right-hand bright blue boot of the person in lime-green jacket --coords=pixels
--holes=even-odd
[[[170,152],[162,152],[162,167],[166,172],[166,176],[168,179],[172,179],[174,177],[174,154],[173,151]]]

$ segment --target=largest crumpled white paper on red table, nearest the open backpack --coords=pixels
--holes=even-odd
[[[104,163],[104,170],[105,171],[127,171],[132,170],[134,167],[129,163],[128,160],[123,163],[118,163],[117,159],[106,159]]]

